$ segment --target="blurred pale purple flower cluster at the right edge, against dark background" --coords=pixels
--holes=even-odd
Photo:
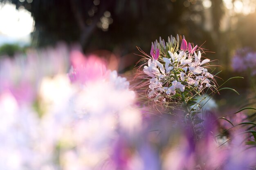
[[[256,75],[256,52],[249,48],[238,49],[232,59],[231,66],[234,71],[248,71],[251,75]]]

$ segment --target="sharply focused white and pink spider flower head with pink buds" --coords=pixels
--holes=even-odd
[[[177,39],[171,35],[167,42],[160,37],[159,42],[152,42],[150,55],[143,72],[149,79],[148,97],[154,101],[188,102],[204,89],[216,88],[214,76],[207,70],[210,60],[201,60],[198,46],[184,37],[181,46],[178,35]]]

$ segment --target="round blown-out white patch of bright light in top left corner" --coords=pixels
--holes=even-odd
[[[24,8],[16,9],[9,1],[0,3],[0,33],[10,37],[22,37],[34,30],[34,19]]]

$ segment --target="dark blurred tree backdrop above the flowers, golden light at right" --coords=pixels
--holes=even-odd
[[[137,53],[136,46],[149,53],[159,36],[185,35],[218,60],[222,77],[238,75],[230,66],[236,49],[256,49],[256,0],[0,0],[1,9],[12,4],[31,15],[29,39],[22,44],[2,42],[0,53],[13,55],[27,46],[44,47],[59,41],[81,44],[85,53],[104,49],[118,56]],[[2,10],[3,11],[3,10]],[[11,12],[0,12],[7,18]],[[17,14],[18,15],[18,14]],[[16,18],[17,20],[17,18]],[[18,21],[22,18],[19,16]],[[1,24],[3,21],[0,19]],[[21,25],[24,25],[24,22]],[[19,27],[18,25],[14,25]],[[7,29],[7,28],[6,28]],[[17,29],[17,28],[16,28]],[[7,29],[7,32],[10,29]],[[2,33],[0,29],[0,42]],[[11,34],[11,32],[9,33]],[[25,33],[24,33],[25,34]],[[7,37],[4,35],[5,38]],[[11,43],[10,43],[11,42]],[[13,45],[8,45],[13,44]],[[214,52],[214,53],[212,53]],[[129,60],[126,57],[125,60]],[[139,57],[130,57],[132,68]],[[244,75],[246,76],[246,75]],[[246,84],[236,83],[236,86]]]

